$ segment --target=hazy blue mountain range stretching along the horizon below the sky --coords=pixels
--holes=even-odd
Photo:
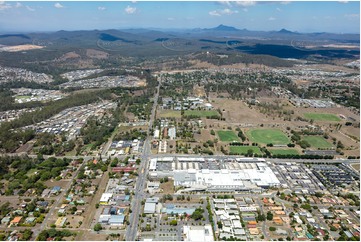
[[[287,29],[252,31],[232,26],[185,30],[108,29],[0,35],[0,45],[34,44],[49,50],[103,49],[124,55],[168,55],[197,51],[239,51],[281,58],[310,55],[359,56],[359,34],[299,33]],[[173,51],[173,52],[172,52]]]

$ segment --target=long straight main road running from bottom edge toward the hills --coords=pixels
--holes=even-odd
[[[158,86],[157,86],[157,90],[156,90],[156,94],[154,96],[154,103],[153,103],[153,108],[152,108],[152,113],[150,115],[149,118],[149,127],[148,127],[148,137],[144,142],[144,146],[143,146],[143,152],[141,155],[141,160],[142,162],[140,163],[140,172],[138,175],[138,179],[137,179],[137,183],[135,186],[135,194],[132,198],[132,203],[131,203],[131,209],[132,212],[130,213],[129,216],[129,227],[127,228],[127,232],[125,234],[125,238],[127,241],[134,241],[137,237],[137,233],[138,233],[138,220],[139,220],[139,214],[140,214],[140,209],[141,209],[141,202],[144,199],[144,186],[147,180],[147,175],[148,175],[148,166],[149,166],[149,159],[151,157],[151,130],[153,127],[153,122],[154,122],[154,118],[155,118],[155,112],[157,109],[157,104],[158,104],[158,98],[159,98],[159,89],[160,89],[160,85],[161,85],[161,76],[158,77]]]

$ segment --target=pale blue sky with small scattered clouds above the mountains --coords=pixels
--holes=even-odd
[[[220,24],[260,31],[360,33],[360,2],[0,1],[0,31],[9,33]]]

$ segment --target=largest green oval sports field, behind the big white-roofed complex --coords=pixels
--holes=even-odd
[[[251,141],[262,144],[285,145],[290,142],[279,129],[251,129],[248,130],[247,136]]]

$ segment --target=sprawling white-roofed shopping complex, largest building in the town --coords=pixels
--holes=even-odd
[[[204,164],[193,163],[195,164],[189,162],[171,162],[170,164],[168,163],[169,165],[157,165],[154,159],[152,170],[155,172],[153,172],[153,175],[158,177],[173,176],[174,186],[185,187],[188,191],[251,190],[260,192],[263,188],[278,187],[281,184],[272,169],[265,162],[214,161],[213,163],[208,162]],[[184,164],[187,165],[188,169]],[[169,169],[156,169],[156,167],[168,167]],[[180,167],[180,169],[177,169],[177,167]]]

